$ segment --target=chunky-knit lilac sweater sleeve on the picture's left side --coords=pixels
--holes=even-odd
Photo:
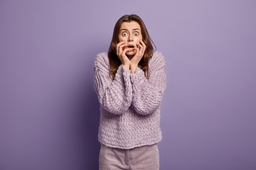
[[[105,56],[104,56],[105,55]],[[122,114],[132,102],[130,70],[119,66],[115,79],[109,76],[109,61],[105,54],[98,54],[94,62],[94,89],[103,109],[110,113]]]

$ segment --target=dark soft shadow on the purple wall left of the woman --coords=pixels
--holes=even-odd
[[[100,46],[100,44],[97,44]],[[76,115],[72,115],[75,119],[75,142],[76,146],[76,161],[73,169],[76,170],[97,170],[99,169],[99,151],[101,144],[98,141],[99,122],[100,122],[100,104],[97,93],[94,90],[94,60],[99,51],[104,51],[102,48],[97,50],[88,49],[89,53],[81,54],[82,56],[90,56],[86,62],[82,63],[79,70],[79,77],[74,81],[75,100],[74,110]],[[78,159],[78,160],[77,160]]]

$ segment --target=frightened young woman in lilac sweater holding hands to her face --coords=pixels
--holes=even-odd
[[[108,53],[95,58],[100,170],[159,170],[166,66],[150,40],[139,16],[124,15],[115,25]]]

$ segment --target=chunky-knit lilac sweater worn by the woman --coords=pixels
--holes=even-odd
[[[166,88],[162,53],[154,51],[149,68],[150,77],[146,79],[141,68],[132,74],[120,65],[112,80],[108,53],[96,56],[94,89],[101,106],[98,134],[101,144],[130,149],[161,141],[160,103]]]

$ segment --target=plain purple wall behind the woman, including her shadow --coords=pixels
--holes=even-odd
[[[0,0],[0,170],[97,170],[93,62],[135,13],[166,58],[161,170],[256,169],[256,1]]]

